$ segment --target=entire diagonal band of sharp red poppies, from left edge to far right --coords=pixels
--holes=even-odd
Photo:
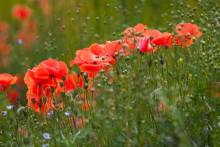
[[[76,57],[70,61],[70,66],[78,66],[81,73],[88,75],[89,81],[101,70],[113,69],[117,57],[129,56],[134,51],[154,53],[161,48],[171,48],[174,45],[189,47],[202,36],[199,27],[192,23],[181,23],[176,26],[176,33],[160,32],[148,29],[144,24],[129,27],[123,32],[121,40],[107,41],[103,44],[94,43],[88,48],[78,50]],[[0,90],[9,88],[16,78],[2,74]],[[63,61],[47,59],[27,71],[24,82],[27,85],[27,105],[39,113],[63,108],[63,93],[70,93],[76,88],[84,88],[85,80],[81,74],[70,73]],[[90,83],[92,85],[92,83]],[[89,90],[89,89],[88,89]],[[82,109],[89,109],[90,104],[84,101]]]

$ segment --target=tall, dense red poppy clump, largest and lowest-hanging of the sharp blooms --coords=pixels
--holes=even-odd
[[[55,99],[59,98],[57,92],[59,83],[63,82],[68,73],[66,64],[55,59],[48,59],[29,70],[24,78],[28,87],[28,106],[36,112],[45,113],[56,108]],[[61,98],[58,103],[63,107]]]

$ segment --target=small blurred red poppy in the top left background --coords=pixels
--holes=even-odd
[[[32,15],[32,10],[28,8],[27,6],[23,5],[16,5],[13,7],[12,15],[20,21],[27,20]]]

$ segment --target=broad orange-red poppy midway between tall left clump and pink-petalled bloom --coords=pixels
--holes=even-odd
[[[107,45],[95,43],[89,48],[77,51],[70,66],[78,65],[82,72],[86,72],[90,78],[93,78],[101,69],[108,70],[110,65],[115,64],[113,54],[118,50],[118,46],[114,43],[108,42]]]

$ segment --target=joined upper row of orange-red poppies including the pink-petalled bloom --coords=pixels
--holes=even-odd
[[[127,56],[135,50],[141,53],[153,53],[160,48],[171,48],[173,45],[189,47],[201,37],[199,27],[192,23],[181,23],[176,26],[176,34],[148,29],[144,24],[137,24],[124,30],[121,40],[108,41],[105,44],[92,44],[78,50],[70,66],[78,65],[90,78],[101,70],[107,71],[116,62],[116,56]]]

